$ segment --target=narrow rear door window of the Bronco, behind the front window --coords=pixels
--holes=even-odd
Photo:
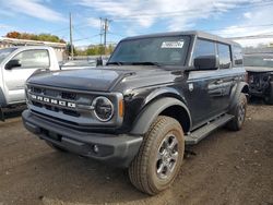
[[[217,44],[218,57],[219,57],[219,69],[229,69],[232,65],[230,47],[225,44]]]

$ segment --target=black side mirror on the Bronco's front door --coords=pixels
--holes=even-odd
[[[217,70],[219,60],[216,56],[200,56],[194,59],[193,64],[197,70]]]

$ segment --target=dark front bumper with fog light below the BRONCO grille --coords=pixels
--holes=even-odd
[[[80,132],[33,114],[22,113],[25,128],[57,146],[116,167],[128,167],[138,154],[142,136]]]

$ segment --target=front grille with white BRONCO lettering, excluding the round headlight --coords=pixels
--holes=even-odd
[[[106,96],[112,101],[114,110],[118,110],[119,101],[122,100],[122,95],[119,93],[74,91],[36,84],[27,84],[26,87],[28,109],[41,118],[84,129],[121,125],[122,118],[116,114],[118,111],[107,122],[102,122],[96,118],[92,104],[98,96]]]

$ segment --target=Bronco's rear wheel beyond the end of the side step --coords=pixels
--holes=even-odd
[[[229,113],[234,116],[234,119],[227,123],[227,129],[233,131],[239,131],[242,128],[247,113],[247,97],[244,93],[241,93],[236,105],[229,111]]]

